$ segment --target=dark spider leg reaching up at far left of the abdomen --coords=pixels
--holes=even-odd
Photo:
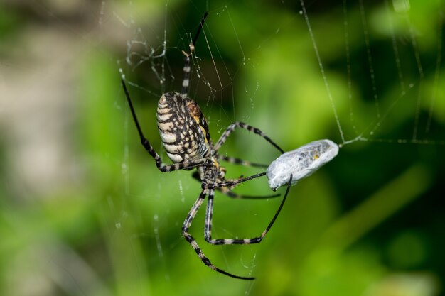
[[[162,163],[161,157],[158,153],[154,150],[153,146],[151,146],[149,140],[147,140],[144,136],[144,133],[142,132],[141,126],[139,125],[139,121],[136,117],[136,112],[134,111],[134,107],[132,104],[132,99],[130,98],[127,85],[125,84],[124,78],[121,78],[122,87],[124,88],[125,96],[127,97],[127,102],[130,106],[130,110],[132,111],[132,116],[134,120],[134,124],[136,124],[137,131],[139,133],[139,138],[141,138],[142,146],[144,146],[145,150],[151,155],[151,157],[154,158],[154,161],[156,162],[156,167],[161,172],[171,172],[173,170],[183,170],[188,168],[195,168],[199,165],[204,165],[205,163],[208,163],[208,160],[206,158],[198,158],[195,160],[186,160],[182,163],[175,163],[173,165],[166,165],[165,163]]]

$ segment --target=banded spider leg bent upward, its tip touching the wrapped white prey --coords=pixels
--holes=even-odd
[[[204,226],[205,241],[207,241],[208,243],[212,243],[213,245],[251,244],[251,243],[259,243],[260,241],[262,241],[262,239],[264,239],[264,236],[266,236],[269,229],[271,229],[272,225],[274,225],[275,220],[277,220],[279,212],[282,211],[284,202],[286,202],[287,194],[289,194],[289,190],[291,189],[291,182],[292,182],[292,175],[289,178],[289,183],[287,185],[286,193],[284,194],[282,203],[279,204],[279,208],[275,213],[274,217],[269,222],[269,225],[267,225],[266,229],[264,229],[262,234],[252,239],[212,239],[213,190],[210,190],[210,193],[208,195],[207,210],[205,212],[205,226]]]

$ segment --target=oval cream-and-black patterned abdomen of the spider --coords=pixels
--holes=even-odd
[[[159,99],[157,122],[163,147],[173,163],[203,158],[210,151],[207,122],[198,104],[177,92]]]

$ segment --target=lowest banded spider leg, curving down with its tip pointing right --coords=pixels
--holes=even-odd
[[[213,192],[212,192],[212,194],[213,194]],[[207,195],[207,190],[203,190],[200,193],[198,199],[196,199],[195,204],[193,204],[193,207],[191,208],[190,212],[188,212],[186,220],[184,220],[184,223],[182,226],[182,235],[183,235],[184,239],[186,239],[186,241],[188,241],[188,243],[191,244],[193,250],[195,250],[195,253],[198,255],[200,260],[203,261],[203,263],[205,265],[207,265],[209,268],[211,268],[215,271],[218,271],[218,273],[223,273],[224,275],[228,275],[231,278],[239,278],[241,280],[254,280],[254,278],[247,278],[247,277],[241,277],[238,275],[233,275],[232,273],[227,273],[227,271],[217,268],[215,265],[213,265],[210,262],[210,259],[204,255],[203,251],[201,251],[200,247],[198,246],[198,243],[196,243],[193,236],[191,236],[191,234],[188,233],[188,229],[190,229],[193,219],[195,219],[196,213],[198,212],[201,204],[203,204],[203,202],[204,202],[205,195]]]

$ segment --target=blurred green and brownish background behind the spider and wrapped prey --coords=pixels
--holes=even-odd
[[[343,139],[299,1],[1,1],[0,295],[445,295],[444,8],[306,1]],[[363,138],[291,188],[258,245],[210,246],[198,214],[204,253],[252,282],[182,239],[200,184],[156,170],[119,83],[122,67],[161,151],[157,100],[206,10],[190,94],[214,141],[234,121],[284,150]],[[225,147],[278,156],[246,131]],[[265,178],[237,192],[271,194]],[[257,236],[279,202],[217,194],[214,236]]]

